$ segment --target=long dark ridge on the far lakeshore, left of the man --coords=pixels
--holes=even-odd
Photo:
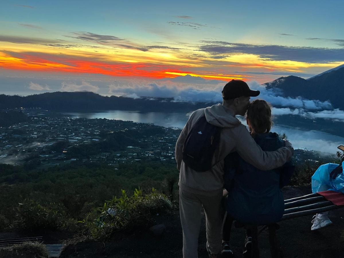
[[[101,96],[92,92],[53,92],[26,97],[0,95],[0,109],[35,108],[55,111],[139,110],[191,111],[207,106],[205,103],[173,102],[172,98],[127,98]]]

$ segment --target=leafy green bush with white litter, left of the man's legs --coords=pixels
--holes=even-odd
[[[112,200],[104,203],[103,207],[94,209],[80,222],[86,226],[84,234],[88,234],[90,239],[105,240],[116,230],[127,232],[142,226],[147,227],[152,214],[173,208],[174,205],[169,198],[154,188],[149,194],[143,194],[141,189],[135,189],[131,197],[122,190],[120,198],[114,196]]]

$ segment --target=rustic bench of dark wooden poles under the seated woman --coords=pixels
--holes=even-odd
[[[325,192],[332,192],[332,191],[325,191]],[[322,213],[331,211],[333,209],[338,209],[344,207],[343,205],[335,205],[333,202],[327,200],[322,193],[314,193],[308,194],[296,198],[292,198],[289,200],[284,200],[284,215],[282,216],[280,221],[284,221],[291,218],[307,216],[307,215],[315,215],[316,213]],[[335,193],[335,192],[333,192]],[[344,194],[340,194],[339,199],[341,202],[344,203]],[[250,258],[259,258],[259,246],[258,246],[258,236],[259,234],[266,228],[269,231],[269,243],[270,243],[270,252],[272,258],[282,258],[283,254],[279,245],[279,241],[276,235],[276,230],[279,229],[279,225],[277,223],[272,223],[269,225],[247,225],[240,223],[238,221],[234,222],[234,226],[236,228],[245,227],[246,229],[251,229],[252,232],[252,249],[251,252],[246,254],[245,257]],[[263,226],[262,229],[258,232],[258,226]]]

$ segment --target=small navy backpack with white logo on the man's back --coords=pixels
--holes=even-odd
[[[184,163],[197,172],[212,168],[213,156],[220,142],[221,128],[200,117],[187,134],[183,146]]]

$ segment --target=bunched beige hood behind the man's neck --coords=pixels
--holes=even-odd
[[[222,128],[233,128],[241,123],[235,118],[233,110],[222,104],[205,108],[204,115],[208,123]]]

